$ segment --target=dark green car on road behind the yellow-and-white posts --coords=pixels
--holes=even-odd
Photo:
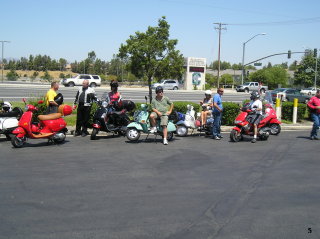
[[[309,95],[301,94],[301,92],[297,89],[278,88],[271,92],[273,101],[276,101],[277,94],[278,94],[278,97],[281,99],[281,101],[293,102],[293,99],[297,98],[299,103],[307,103],[308,100],[310,100],[311,98]]]

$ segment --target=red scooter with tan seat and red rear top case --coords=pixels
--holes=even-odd
[[[25,102],[25,100],[24,100]],[[62,116],[70,115],[72,107],[60,105],[58,113],[39,115],[39,123],[32,122],[32,116],[37,107],[26,105],[27,111],[21,116],[18,127],[12,131],[11,143],[15,148],[21,148],[30,139],[48,139],[54,143],[62,143],[66,138],[67,123]]]

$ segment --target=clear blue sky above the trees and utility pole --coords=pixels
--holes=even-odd
[[[245,63],[289,49],[320,48],[319,0],[2,0],[0,9],[0,40],[11,41],[5,58],[46,54],[73,62],[95,51],[109,61],[130,35],[156,26],[161,16],[185,57],[205,57],[209,63],[218,58],[215,22],[229,24],[222,32],[222,61],[240,63],[243,42],[258,33],[267,35],[246,44]],[[295,59],[301,55],[262,63]]]

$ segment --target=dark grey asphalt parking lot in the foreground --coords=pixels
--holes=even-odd
[[[223,135],[0,139],[0,238],[320,238],[320,142]]]

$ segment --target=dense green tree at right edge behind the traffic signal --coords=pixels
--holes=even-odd
[[[319,62],[319,59],[318,59]],[[296,85],[301,85],[304,87],[310,87],[314,85],[316,58],[311,54],[303,57],[300,65],[297,66],[294,72],[294,83]],[[318,64],[319,65],[319,64]],[[317,67],[317,72],[319,74],[319,66]],[[317,75],[319,77],[319,75]]]

